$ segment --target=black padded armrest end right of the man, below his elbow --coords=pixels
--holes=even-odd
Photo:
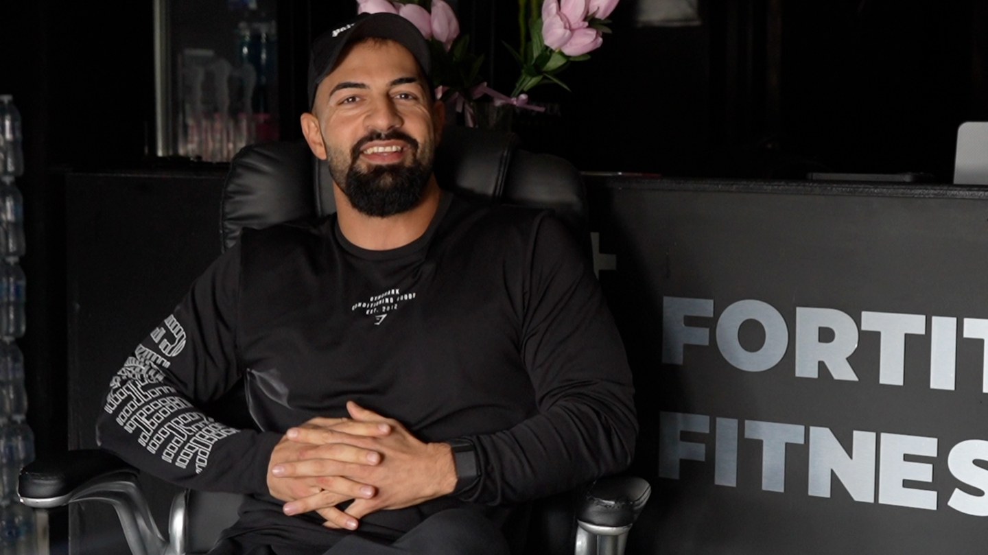
[[[589,527],[630,528],[651,493],[651,486],[641,478],[602,478],[587,490],[580,501],[576,519],[581,525],[589,524]]]

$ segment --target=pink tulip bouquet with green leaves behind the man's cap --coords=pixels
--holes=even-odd
[[[429,40],[433,54],[433,85],[437,97],[477,123],[476,101],[487,96],[494,107],[512,106],[541,112],[529,104],[528,91],[554,83],[569,91],[559,74],[572,62],[590,59],[608,29],[608,16],[618,0],[518,0],[518,47],[507,42],[521,70],[511,96],[480,81],[483,56],[469,51],[469,36],[459,35],[459,22],[444,0],[357,0],[358,13],[386,12],[412,22]]]

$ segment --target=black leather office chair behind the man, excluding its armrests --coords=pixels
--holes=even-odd
[[[434,165],[440,187],[491,202],[550,208],[589,257],[587,200],[580,173],[561,158],[520,150],[518,142],[512,133],[447,127]],[[260,229],[336,211],[333,187],[326,162],[316,159],[303,141],[245,147],[230,164],[223,187],[221,248],[233,246],[245,227]],[[252,425],[242,386],[206,407],[206,413],[230,426]],[[218,532],[236,519],[241,498],[208,492],[186,495],[189,552],[205,553]],[[543,500],[536,508],[533,526],[538,531],[531,543],[537,552],[572,553],[575,536],[568,497]]]

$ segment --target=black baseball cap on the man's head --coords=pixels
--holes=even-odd
[[[429,77],[432,71],[429,42],[412,22],[396,14],[361,14],[357,19],[323,33],[312,42],[309,52],[309,108],[315,102],[316,87],[333,70],[344,47],[354,40],[370,37],[394,40],[408,48],[422,67],[422,72]]]

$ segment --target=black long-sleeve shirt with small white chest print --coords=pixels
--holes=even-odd
[[[263,432],[196,409],[241,378]],[[245,230],[127,358],[98,436],[176,484],[251,494],[229,533],[260,527],[250,533],[321,553],[351,532],[283,515],[268,495],[289,427],[346,416],[354,400],[422,440],[473,442],[481,474],[456,499],[362,519],[360,533],[394,538],[446,507],[499,507],[488,513],[503,520],[622,470],[631,397],[613,319],[563,225],[445,194],[425,234],[388,251],[353,245],[335,216]]]

